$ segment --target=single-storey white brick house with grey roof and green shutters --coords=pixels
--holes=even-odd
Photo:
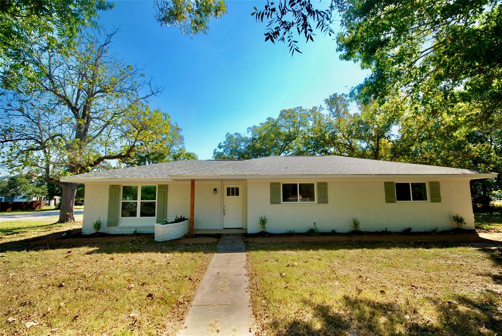
[[[85,183],[82,232],[151,233],[154,223],[189,217],[190,230],[243,228],[271,233],[430,231],[474,228],[469,181],[495,173],[341,156],[191,160],[65,177]]]

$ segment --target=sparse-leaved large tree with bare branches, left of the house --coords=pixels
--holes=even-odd
[[[161,89],[109,53],[112,37],[82,34],[71,56],[37,55],[38,80],[25,79],[0,95],[2,163],[36,167],[62,188],[60,222],[74,220],[78,186],[61,177],[159,151],[171,140],[169,116],[146,104]]]

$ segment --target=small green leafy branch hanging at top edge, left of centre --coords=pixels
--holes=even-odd
[[[226,14],[223,0],[155,0],[161,26],[176,26],[186,35],[206,33],[209,20]]]

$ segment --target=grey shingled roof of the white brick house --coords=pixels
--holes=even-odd
[[[411,163],[328,156],[269,156],[250,160],[188,160],[146,166],[91,172],[65,177],[65,182],[90,182],[122,179],[204,179],[204,178],[267,178],[267,177],[371,177],[390,175],[464,176],[470,179],[496,177],[483,173]]]

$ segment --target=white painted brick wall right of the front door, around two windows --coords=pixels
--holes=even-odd
[[[391,179],[392,180],[392,179]],[[247,181],[247,230],[261,231],[259,218],[267,216],[267,231],[305,232],[314,227],[320,231],[352,231],[352,218],[357,217],[362,231],[430,231],[435,227],[449,230],[455,227],[452,216],[464,216],[466,229],[474,228],[469,181],[467,179],[433,179],[440,181],[440,203],[386,203],[384,182],[389,179],[331,179],[328,182],[327,204],[270,204],[270,182],[300,182],[296,180]],[[395,182],[428,182],[429,180],[395,180]],[[317,182],[317,180],[316,180]],[[429,188],[427,186],[427,188]],[[430,199],[430,197],[428,197]]]

